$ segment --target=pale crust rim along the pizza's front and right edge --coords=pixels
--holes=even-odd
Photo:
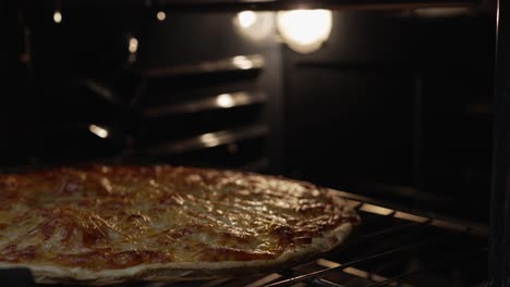
[[[335,204],[343,207],[344,212],[356,216],[345,200],[328,189]],[[253,275],[264,272],[275,272],[312,260],[318,254],[328,252],[342,245],[352,233],[354,224],[345,222],[337,228],[324,232],[320,237],[313,238],[309,245],[286,250],[277,259],[255,261],[223,262],[171,262],[157,264],[141,264],[122,270],[89,271],[82,267],[65,267],[58,265],[23,264],[0,262],[0,269],[27,267],[39,284],[81,284],[110,285],[125,282],[180,282],[215,279]]]

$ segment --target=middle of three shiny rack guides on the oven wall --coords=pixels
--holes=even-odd
[[[229,93],[221,93],[215,97],[201,99],[192,102],[184,102],[179,104],[157,107],[148,109],[143,112],[143,115],[149,117],[196,113],[214,109],[228,109],[235,107],[243,107],[250,104],[263,103],[266,101],[266,95],[258,91],[236,91]]]

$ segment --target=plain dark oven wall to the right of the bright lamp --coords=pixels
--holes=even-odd
[[[321,50],[283,50],[287,172],[486,220],[494,30],[488,14],[335,13]]]

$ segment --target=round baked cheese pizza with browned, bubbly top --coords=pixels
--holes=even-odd
[[[182,166],[62,167],[0,175],[0,267],[37,283],[232,277],[289,267],[359,223],[308,183]]]

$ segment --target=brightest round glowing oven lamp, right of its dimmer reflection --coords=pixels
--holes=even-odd
[[[300,53],[315,52],[329,38],[332,13],[329,10],[292,10],[277,14],[277,26],[286,43]]]

